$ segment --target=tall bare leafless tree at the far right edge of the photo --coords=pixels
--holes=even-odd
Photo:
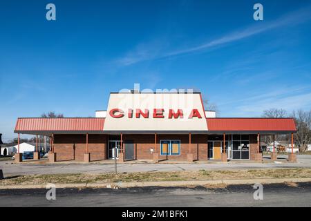
[[[297,133],[295,133],[296,144],[299,145],[300,151],[304,152],[311,143],[311,111],[294,111],[292,113],[296,123]]]

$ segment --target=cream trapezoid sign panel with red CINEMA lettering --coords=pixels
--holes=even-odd
[[[207,131],[200,94],[111,93],[104,131]]]

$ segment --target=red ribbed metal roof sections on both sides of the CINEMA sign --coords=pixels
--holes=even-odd
[[[100,132],[104,131],[104,118],[18,118],[15,133],[36,131]],[[296,132],[292,118],[207,118],[207,133],[211,132]]]

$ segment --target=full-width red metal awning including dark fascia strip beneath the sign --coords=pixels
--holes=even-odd
[[[62,118],[18,118],[15,133],[33,135],[59,134],[219,134],[219,133],[295,133],[293,118],[207,118],[208,130],[202,131],[130,131],[126,128],[118,131],[105,130],[105,118],[100,117],[62,117]]]

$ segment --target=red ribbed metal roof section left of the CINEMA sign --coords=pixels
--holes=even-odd
[[[22,131],[103,131],[104,118],[18,118],[16,132]]]

